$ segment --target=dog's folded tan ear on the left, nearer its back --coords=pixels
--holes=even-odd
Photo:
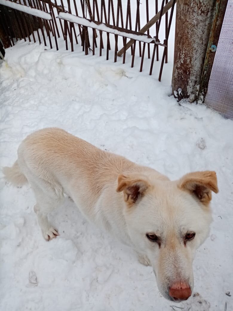
[[[124,199],[128,206],[132,206],[145,194],[149,188],[146,176],[142,174],[120,174],[118,176],[117,192],[123,191]]]

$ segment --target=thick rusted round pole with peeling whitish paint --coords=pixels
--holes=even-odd
[[[216,3],[177,0],[172,92],[178,100],[197,100]]]

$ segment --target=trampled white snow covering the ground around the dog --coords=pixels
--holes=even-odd
[[[80,46],[46,49],[20,41],[0,64],[1,166],[13,164],[29,133],[56,126],[171,179],[216,170],[220,192],[194,260],[198,294],[178,304],[159,294],[151,267],[87,223],[68,198],[51,215],[60,236],[43,240],[30,187],[12,188],[1,175],[0,310],[223,311],[226,303],[232,310],[232,121],[205,106],[178,105],[170,96],[172,57],[160,83],[160,63],[150,77],[149,63],[139,73],[129,55],[122,65],[85,56]]]

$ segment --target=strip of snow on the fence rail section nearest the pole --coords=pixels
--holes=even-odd
[[[117,29],[112,29],[111,27],[108,27],[108,26],[104,25],[103,23],[97,24],[97,23],[95,23],[93,21],[89,21],[89,20],[87,20],[87,19],[85,19],[83,17],[75,16],[75,15],[72,15],[72,14],[69,14],[69,13],[60,12],[58,14],[57,18],[64,19],[66,21],[70,21],[70,22],[73,22],[73,23],[76,23],[76,24],[80,24],[80,25],[83,25],[83,26],[95,28],[95,29],[98,29],[98,30],[106,31],[106,32],[109,32],[109,33],[114,34],[114,35],[120,35],[122,37],[127,37],[127,38],[130,38],[130,39],[134,39],[134,40],[138,40],[138,41],[142,41],[142,42],[146,42],[146,43],[158,43],[158,44],[160,44],[160,42],[157,42],[155,40],[155,37],[151,38],[151,37],[148,37],[147,35],[130,34],[130,33],[125,32],[125,31],[120,31],[120,30],[117,30]],[[160,45],[163,45],[163,44],[160,44]]]

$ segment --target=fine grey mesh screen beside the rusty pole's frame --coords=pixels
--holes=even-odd
[[[216,53],[210,53],[210,58],[214,59],[204,104],[225,118],[233,118],[233,0],[228,0],[227,6],[226,2],[222,1],[222,10],[220,8],[219,19],[224,17],[223,23],[215,31],[216,40],[217,33],[221,31],[218,43],[213,42],[217,50]]]

